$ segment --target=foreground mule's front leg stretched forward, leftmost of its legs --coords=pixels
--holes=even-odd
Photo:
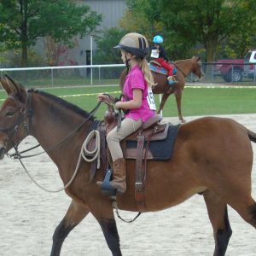
[[[89,210],[72,201],[67,210],[65,217],[61,223],[56,227],[53,236],[53,245],[50,256],[59,256],[61,253],[61,246],[67,235],[73,228],[80,223],[80,221],[89,213]]]

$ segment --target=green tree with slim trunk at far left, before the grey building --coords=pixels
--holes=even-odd
[[[72,44],[73,36],[93,31],[102,15],[69,0],[0,0],[0,42],[6,49],[21,49],[21,66],[27,66],[27,50],[38,38]]]

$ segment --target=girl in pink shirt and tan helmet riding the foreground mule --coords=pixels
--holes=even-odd
[[[147,39],[136,32],[128,33],[116,46],[121,50],[121,58],[129,70],[125,79],[122,101],[115,103],[115,108],[125,110],[119,130],[113,128],[108,133],[108,148],[113,160],[113,181],[110,184],[120,194],[126,190],[125,159],[120,141],[137,131],[143,122],[154,116],[155,104],[151,86],[154,84],[146,56],[149,47]],[[108,101],[108,96],[97,96],[99,102]],[[97,182],[102,186],[102,182]]]

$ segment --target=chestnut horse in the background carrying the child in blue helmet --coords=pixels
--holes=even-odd
[[[178,119],[184,123],[181,102],[182,102],[182,94],[185,86],[185,78],[189,75],[189,73],[194,73],[199,79],[204,76],[204,73],[201,70],[201,58],[193,56],[191,59],[175,61],[175,67],[177,67],[177,80],[179,81],[177,84],[170,86],[167,82],[167,77],[165,74],[161,73],[153,73],[154,82],[156,85],[152,88],[154,94],[163,94],[160,102],[160,108],[157,113],[164,108],[166,104],[166,100],[172,94],[176,97],[177,102],[177,113]],[[123,88],[125,84],[126,77],[126,68],[122,71],[119,78],[119,85]]]

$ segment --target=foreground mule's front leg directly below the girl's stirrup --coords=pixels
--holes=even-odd
[[[119,233],[113,217],[113,208],[111,204],[99,204],[93,206],[90,212],[94,215],[98,223],[101,225],[103,235],[107,241],[108,247],[113,256],[121,256]]]

